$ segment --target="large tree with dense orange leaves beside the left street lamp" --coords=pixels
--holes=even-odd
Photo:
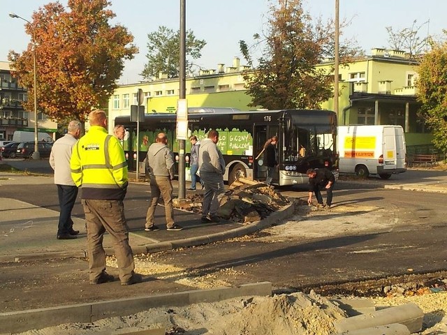
[[[36,45],[38,110],[56,121],[85,117],[92,107],[108,104],[124,60],[138,49],[133,36],[122,25],[110,24],[115,17],[107,0],[68,0],[48,3],[34,12],[26,24]],[[26,110],[33,110],[33,43],[18,54],[10,51],[19,82],[29,89]]]

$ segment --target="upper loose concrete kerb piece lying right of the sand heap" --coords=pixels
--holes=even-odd
[[[346,318],[338,322],[335,327],[337,332],[343,334],[343,332],[348,331],[352,332],[354,330],[400,323],[401,325],[405,325],[411,333],[416,333],[422,329],[423,318],[424,313],[419,306],[409,303],[402,306],[384,308],[374,313]]]

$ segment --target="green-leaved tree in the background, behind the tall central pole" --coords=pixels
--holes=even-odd
[[[159,77],[166,73],[168,78],[179,77],[180,33],[161,26],[159,30],[147,34],[147,63],[140,75],[145,79]],[[186,31],[186,75],[193,74],[193,61],[202,56],[200,53],[207,43],[198,40],[193,31]]]

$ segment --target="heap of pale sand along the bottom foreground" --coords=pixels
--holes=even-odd
[[[66,324],[20,334],[120,334],[166,329],[166,334],[332,334],[333,322],[345,313],[328,299],[298,292],[274,297],[244,297],[184,307],[151,308],[93,324]]]

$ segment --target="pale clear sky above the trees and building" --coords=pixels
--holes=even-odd
[[[271,0],[270,0],[271,1]],[[238,41],[251,42],[254,33],[261,33],[267,20],[269,0],[186,0],[186,29],[192,29],[197,38],[207,41],[201,59],[196,63],[203,68],[217,68],[223,63],[231,66],[233,57],[241,57]],[[0,0],[0,61],[6,61],[8,50],[22,52],[29,43],[22,20],[10,18],[16,13],[30,19],[34,10],[49,0]],[[61,3],[66,4],[66,0]],[[145,64],[147,34],[165,25],[179,29],[179,0],[111,0],[111,9],[117,14],[115,22],[123,24],[133,34],[140,53],[126,62],[122,84],[138,82]],[[411,27],[413,20],[425,24],[424,33],[440,35],[447,28],[445,0],[339,0],[340,19],[351,20],[346,37],[354,37],[369,54],[372,47],[387,47],[385,27],[395,30]],[[313,16],[323,18],[335,15],[335,0],[307,0],[305,8]],[[241,57],[242,58],[242,57]],[[244,61],[241,60],[241,64]]]

